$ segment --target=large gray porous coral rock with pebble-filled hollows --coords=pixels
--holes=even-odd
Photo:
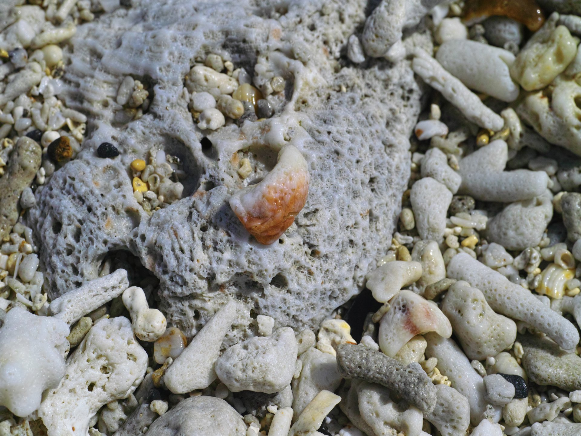
[[[346,57],[365,7],[141,0],[78,26],[61,97],[88,115],[89,139],[37,191],[30,212],[52,298],[97,277],[112,251],[137,256],[159,278],[160,309],[190,337],[231,298],[246,307],[241,325],[252,309],[300,329],[360,291],[390,244],[422,91],[409,60],[355,65]],[[404,45],[430,49],[431,41],[419,28]],[[207,53],[245,69],[274,116],[196,127],[185,88],[195,77],[186,76]],[[130,121],[117,99],[127,76],[146,84],[150,99]],[[284,91],[272,91],[275,76]],[[102,142],[120,155],[99,158]],[[261,245],[228,200],[261,180],[285,144],[307,161],[309,195],[279,240]],[[150,214],[134,198],[129,165],[152,148],[178,156],[187,176],[183,198]],[[253,169],[244,179],[243,158]],[[248,329],[233,330],[230,344],[248,337]]]

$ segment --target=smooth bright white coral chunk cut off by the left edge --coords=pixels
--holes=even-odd
[[[64,376],[69,326],[13,308],[0,328],[0,406],[16,416],[38,409],[42,392]]]

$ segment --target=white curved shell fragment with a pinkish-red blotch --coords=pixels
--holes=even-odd
[[[403,290],[390,303],[392,308],[379,324],[379,347],[393,358],[406,342],[417,334],[435,331],[444,338],[452,335],[452,326],[435,303]]]

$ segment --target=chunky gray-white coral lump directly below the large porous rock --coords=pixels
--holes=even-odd
[[[231,392],[274,394],[290,384],[296,352],[295,332],[285,327],[271,336],[232,345],[217,360],[214,370]]]

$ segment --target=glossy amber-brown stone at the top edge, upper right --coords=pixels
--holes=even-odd
[[[478,23],[493,15],[511,18],[533,32],[539,30],[545,20],[535,0],[468,0],[464,7],[464,22],[468,24]]]

